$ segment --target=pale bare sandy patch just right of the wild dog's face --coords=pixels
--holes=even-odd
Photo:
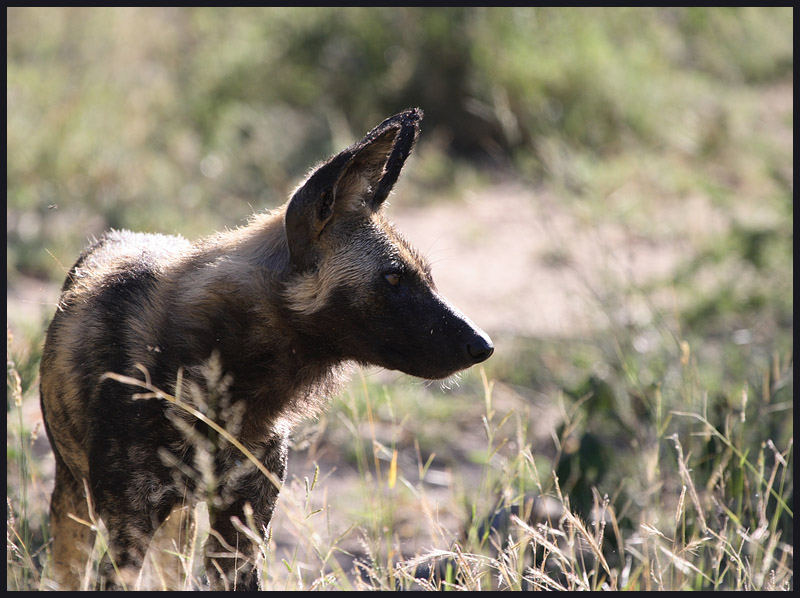
[[[490,334],[572,336],[606,324],[593,295],[666,275],[681,257],[621,227],[586,222],[549,193],[506,184],[462,202],[397,206],[392,220],[437,286]]]

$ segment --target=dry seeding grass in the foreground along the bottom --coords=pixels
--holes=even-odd
[[[117,377],[120,382],[142,387],[141,398],[157,396],[175,402],[145,380]],[[16,364],[9,358],[8,383],[14,401],[11,409],[10,441],[18,443],[12,465],[20,474],[19,495],[10,495],[7,518],[7,574],[9,589],[47,589],[49,542],[34,538],[30,522],[44,518],[44,505],[31,502],[41,496],[34,487],[41,479],[30,475],[29,434],[18,435],[24,389]],[[295,476],[282,493],[276,517],[284,535],[291,534],[294,546],[278,547],[271,537],[259,540],[264,561],[263,581],[270,589],[287,590],[700,590],[700,589],[790,589],[792,587],[792,546],[785,543],[778,524],[781,516],[792,516],[786,503],[791,485],[792,442],[779,449],[769,438],[760,446],[740,446],[734,422],[720,430],[701,413],[672,412],[686,424],[684,432],[664,435],[671,445],[663,455],[664,476],[677,474],[679,484],[653,488],[648,504],[640,505],[638,526],[624,528],[619,506],[594,490],[588,516],[581,516],[562,492],[554,471],[541,472],[531,453],[530,439],[520,426],[520,414],[499,409],[493,400],[494,384],[481,371],[486,464],[475,488],[478,494],[492,493],[496,500],[491,512],[462,522],[463,533],[453,537],[437,516],[437,502],[429,496],[425,477],[434,457],[423,460],[417,452],[415,468],[398,468],[398,452],[404,448],[386,445],[376,434],[376,412],[386,408],[391,397],[375,393],[361,381],[363,409],[351,405],[345,410],[344,426],[360,446],[361,480],[368,494],[363,500],[375,517],[351,524],[344,532],[331,526],[332,512],[326,482],[319,466],[302,484]],[[351,391],[355,392],[355,391]],[[352,398],[352,395],[351,395]],[[194,417],[205,416],[191,407]],[[572,415],[578,412],[573,410]],[[746,410],[736,423],[746,425]],[[570,414],[565,414],[566,419]],[[393,417],[393,416],[392,416]],[[390,417],[390,427],[403,422]],[[510,442],[509,422],[517,420]],[[557,444],[565,444],[574,425],[565,421]],[[362,436],[359,430],[371,430]],[[224,428],[218,432],[227,435]],[[720,441],[724,454],[710,478],[698,476],[694,457],[684,444],[696,438]],[[229,439],[235,442],[234,439]],[[513,446],[509,450],[509,444]],[[417,445],[417,451],[418,451]],[[252,458],[252,455],[245,456]],[[416,474],[416,475],[414,475]],[[265,475],[270,475],[265,472]],[[331,477],[335,473],[331,474]],[[754,491],[755,509],[745,508],[746,497],[733,493],[731,480],[741,476]],[[520,491],[520,488],[524,489]],[[298,489],[300,491],[298,492]],[[401,493],[401,489],[405,492]],[[288,491],[286,491],[288,490]],[[402,495],[401,495],[402,494]],[[321,495],[321,496],[320,496]],[[464,499],[478,504],[479,496],[464,491]],[[486,503],[484,503],[486,504]],[[739,505],[737,510],[735,505]],[[391,528],[391,514],[398,508],[411,509],[429,526],[428,549],[405,557],[398,530]],[[629,511],[630,507],[623,506]],[[380,516],[383,514],[383,517]],[[387,515],[388,514],[388,515]],[[151,548],[148,566],[139,585],[129,589],[201,589],[201,546],[208,533],[204,510],[195,511],[195,525],[184,528],[184,539],[159,539]],[[83,522],[98,531],[95,550],[86,564],[86,588],[93,587],[99,559],[106,549],[102,523],[92,516]],[[396,522],[396,520],[394,520]],[[753,525],[757,524],[757,525]],[[248,522],[241,529],[258,538]],[[353,539],[361,545],[354,554]],[[165,564],[172,563],[171,568]]]

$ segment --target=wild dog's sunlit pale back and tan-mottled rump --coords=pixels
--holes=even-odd
[[[88,477],[83,411],[103,373],[127,371],[133,346],[147,345],[142,325],[152,319],[141,316],[155,307],[155,283],[190,248],[181,237],[111,231],[67,275],[47,331],[40,388],[53,449],[77,479]]]

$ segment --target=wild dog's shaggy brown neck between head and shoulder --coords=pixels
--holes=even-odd
[[[337,378],[339,360],[309,342],[285,306],[290,274],[283,211],[255,216],[195,248],[176,277],[168,324],[180,328],[170,336],[185,339],[179,354],[194,354],[197,362],[219,353],[233,391],[249,403],[252,435],[289,408],[301,417],[313,413]]]

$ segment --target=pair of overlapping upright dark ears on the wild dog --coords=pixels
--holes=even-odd
[[[296,271],[318,259],[317,240],[335,212],[351,205],[377,210],[392,190],[419,135],[422,110],[387,118],[364,138],[317,168],[286,209],[286,239]]]

